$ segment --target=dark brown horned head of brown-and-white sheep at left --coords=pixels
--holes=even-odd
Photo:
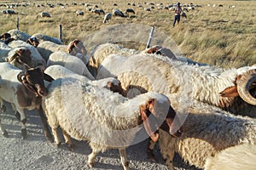
[[[47,88],[44,86],[44,79],[53,80],[49,75],[44,73],[40,67],[31,68],[26,71],[20,71],[17,75],[17,79],[36,97],[44,97],[48,94]]]

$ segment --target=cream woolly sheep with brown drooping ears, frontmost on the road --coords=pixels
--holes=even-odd
[[[179,130],[172,131],[175,111],[169,99],[162,94],[150,92],[134,99],[125,99],[108,89],[82,84],[73,78],[56,79],[49,84],[48,90],[49,94],[43,99],[43,108],[55,145],[58,147],[61,143],[58,126],[69,146],[72,145],[70,137],[89,140],[92,149],[88,159],[89,167],[93,166],[100,151],[116,148],[119,149],[124,169],[129,169],[125,148],[132,142],[147,138],[144,132],[135,138],[136,133],[142,132],[142,122],[152,139],[159,137],[154,131],[161,124],[166,132],[180,136]],[[156,123],[154,127],[151,126],[152,119]]]

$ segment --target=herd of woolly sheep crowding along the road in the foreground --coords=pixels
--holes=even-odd
[[[12,105],[22,137],[26,110],[36,109],[56,147],[58,127],[71,150],[71,138],[90,141],[89,167],[117,148],[129,169],[125,148],[148,137],[148,156],[158,142],[169,169],[175,153],[204,169],[256,167],[256,65],[202,65],[161,46],[105,43],[89,53],[77,39],[17,30],[1,36],[0,57],[1,111]]]

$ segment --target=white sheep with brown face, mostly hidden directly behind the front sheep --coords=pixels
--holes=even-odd
[[[90,83],[91,85],[94,85],[100,88],[108,88],[113,92],[117,92],[125,96],[124,90],[121,88],[120,82],[113,77],[91,81],[89,78],[81,76],[73,71],[70,71],[66,67],[61,65],[50,65],[45,69],[44,73],[49,75],[53,79],[58,79],[63,77],[73,77],[73,78],[79,79],[79,81],[81,82],[87,82],[87,83]]]

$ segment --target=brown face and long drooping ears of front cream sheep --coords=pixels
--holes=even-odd
[[[174,117],[176,116],[176,112],[172,109],[172,106],[169,106],[168,113],[165,117],[164,122],[159,125],[159,115],[155,110],[155,99],[149,99],[145,105],[140,106],[140,115],[143,121],[143,125],[145,127],[146,132],[150,136],[150,138],[156,142],[159,139],[159,132],[153,129],[158,129],[159,127],[164,131],[170,133],[172,137],[180,137],[182,134],[181,129],[178,129],[177,132],[172,133],[172,123]],[[153,116],[150,116],[153,115]],[[150,117],[149,117],[150,116]]]

